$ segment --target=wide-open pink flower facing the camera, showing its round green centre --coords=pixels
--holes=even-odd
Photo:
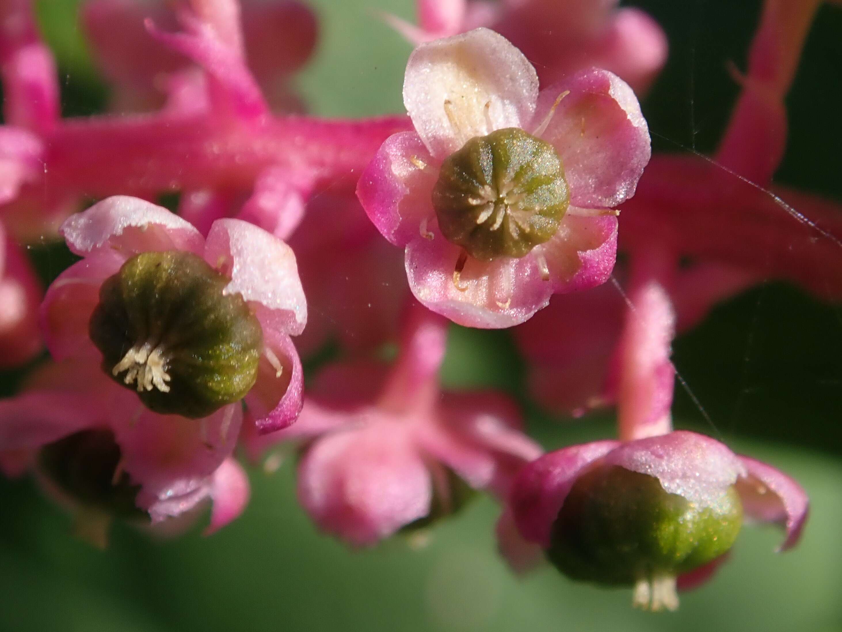
[[[538,94],[535,69],[488,29],[422,44],[403,87],[415,131],[388,138],[357,193],[404,247],[425,306],[473,327],[529,319],[553,293],[599,285],[611,209],[651,147],[626,83],[588,70]]]

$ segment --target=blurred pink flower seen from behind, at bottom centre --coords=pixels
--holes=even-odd
[[[301,442],[301,504],[319,528],[356,546],[453,513],[472,490],[504,495],[541,454],[509,399],[441,391],[445,319],[416,307],[403,334],[388,370],[370,362],[326,367],[295,426],[245,439],[255,456]]]

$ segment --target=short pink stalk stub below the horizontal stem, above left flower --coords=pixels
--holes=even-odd
[[[251,222],[279,239],[288,239],[304,217],[305,201],[312,191],[311,174],[289,169],[266,169],[258,175],[252,196],[238,219]]]

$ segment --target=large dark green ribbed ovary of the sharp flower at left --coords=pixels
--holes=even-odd
[[[238,293],[195,254],[137,254],[106,279],[89,323],[103,371],[147,408],[200,418],[253,387],[263,330]]]

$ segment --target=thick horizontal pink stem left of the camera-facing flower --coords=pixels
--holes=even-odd
[[[43,179],[29,185],[19,204],[148,197],[165,190],[250,190],[270,166],[313,172],[322,181],[344,178],[359,174],[386,137],[409,125],[402,116],[359,122],[268,116],[243,123],[204,115],[65,121],[46,138]]]

